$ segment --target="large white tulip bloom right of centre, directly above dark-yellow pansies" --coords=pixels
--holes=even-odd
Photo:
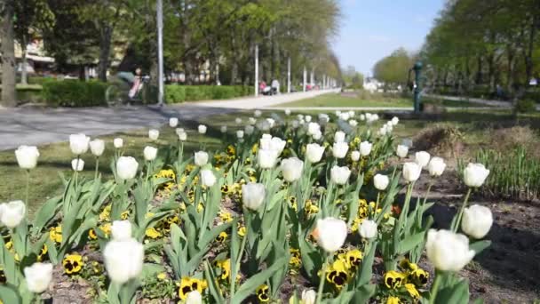
[[[336,252],[345,243],[347,224],[344,220],[331,217],[317,220],[314,236],[325,252]]]

